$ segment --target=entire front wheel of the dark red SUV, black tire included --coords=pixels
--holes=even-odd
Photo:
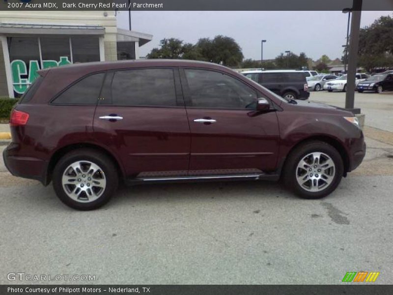
[[[322,160],[319,164],[310,165],[317,158],[315,155],[320,156],[318,161]],[[301,163],[306,165],[302,166]],[[326,164],[331,166],[324,170]],[[344,165],[336,148],[322,141],[309,141],[290,152],[284,165],[282,180],[285,186],[298,196],[304,199],[319,199],[337,188],[343,173]]]

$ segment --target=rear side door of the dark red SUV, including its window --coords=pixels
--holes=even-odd
[[[127,177],[187,175],[190,128],[177,68],[108,72],[93,127]]]

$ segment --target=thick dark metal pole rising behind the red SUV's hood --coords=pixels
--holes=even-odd
[[[349,42],[349,59],[347,73],[347,92],[345,95],[345,108],[355,114],[360,114],[360,109],[354,109],[355,102],[355,76],[356,64],[358,61],[360,18],[362,15],[362,1],[353,0],[352,21],[351,21],[351,39]]]

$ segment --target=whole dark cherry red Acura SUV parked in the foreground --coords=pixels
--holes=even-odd
[[[285,100],[229,68],[185,60],[39,71],[11,114],[8,170],[70,207],[108,202],[119,181],[283,180],[304,198],[362,162],[357,118]]]

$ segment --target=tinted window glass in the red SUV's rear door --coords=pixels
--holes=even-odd
[[[112,104],[119,106],[176,106],[172,69],[117,71],[112,80]]]

